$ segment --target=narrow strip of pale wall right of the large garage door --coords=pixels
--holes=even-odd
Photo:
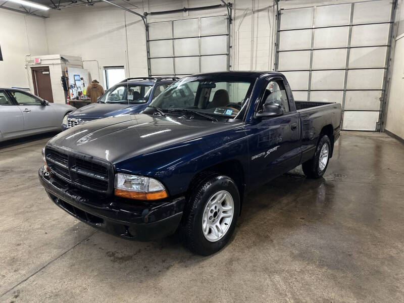
[[[404,139],[404,2],[399,3],[385,129]],[[397,20],[396,19],[396,20]]]

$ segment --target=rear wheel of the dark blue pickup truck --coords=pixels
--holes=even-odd
[[[303,172],[309,178],[320,178],[324,175],[330,160],[331,141],[327,135],[320,138],[312,159],[301,165]]]

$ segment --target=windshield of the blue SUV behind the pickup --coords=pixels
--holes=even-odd
[[[121,84],[111,87],[99,98],[100,103],[141,104],[146,103],[153,85]]]

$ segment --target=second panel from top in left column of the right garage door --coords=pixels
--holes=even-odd
[[[279,50],[288,51],[292,49],[293,51],[298,51],[299,49],[310,49],[311,37],[311,29],[280,32]]]

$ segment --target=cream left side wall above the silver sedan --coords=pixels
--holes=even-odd
[[[45,20],[0,9],[0,46],[0,87],[29,87],[25,56],[48,54]]]

